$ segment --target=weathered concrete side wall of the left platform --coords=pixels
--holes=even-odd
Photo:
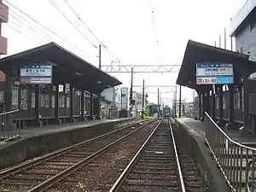
[[[133,124],[135,121],[136,119],[120,119],[102,124],[79,127],[77,129],[74,128],[72,130],[67,129],[59,132],[40,134],[35,137],[24,137],[6,143],[0,147],[0,170],[54,150],[100,136],[108,131]]]

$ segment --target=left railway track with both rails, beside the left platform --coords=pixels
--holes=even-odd
[[[46,154],[0,172],[1,192],[44,191],[65,179],[98,155],[131,136],[144,126],[143,122],[126,126],[83,143]]]

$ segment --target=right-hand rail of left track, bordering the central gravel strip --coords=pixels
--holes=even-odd
[[[149,121],[149,123],[152,123],[152,122],[154,122],[154,121]],[[78,163],[74,164],[73,166],[68,167],[63,172],[60,172],[60,173],[56,174],[54,177],[50,177],[48,180],[44,181],[43,183],[40,183],[37,186],[35,186],[34,188],[28,190],[28,192],[40,192],[40,191],[44,191],[46,189],[49,189],[55,183],[60,182],[63,178],[69,176],[73,172],[76,172],[79,168],[81,168],[82,166],[85,166],[91,160],[96,159],[97,156],[99,156],[100,154],[103,154],[108,148],[111,148],[113,145],[118,144],[119,142],[124,140],[126,137],[131,136],[132,134],[134,134],[135,132],[142,129],[144,126],[146,126],[148,124],[144,124],[144,125],[138,127],[135,131],[131,131],[129,134],[125,135],[124,137],[121,137],[118,140],[114,141],[113,143],[108,144],[104,148],[101,148],[96,153],[90,154],[90,156],[84,158],[84,160],[80,160]]]

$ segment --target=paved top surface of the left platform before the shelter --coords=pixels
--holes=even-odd
[[[88,127],[90,125],[99,125],[104,124],[107,122],[115,122],[124,120],[123,119],[102,119],[102,120],[87,120],[86,122],[77,122],[77,123],[66,123],[63,125],[48,125],[48,126],[41,126],[41,127],[29,127],[27,129],[21,129],[20,130],[20,136],[21,137],[35,137],[39,135],[49,134],[49,133],[55,133],[60,131],[67,131],[67,130],[73,130],[73,129],[79,129],[82,127]]]

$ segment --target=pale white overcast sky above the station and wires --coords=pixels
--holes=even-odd
[[[9,23],[3,24],[8,55],[53,41],[98,66],[102,42],[107,47],[102,48],[102,65],[117,60],[120,65],[181,65],[189,39],[218,45],[220,34],[224,44],[224,27],[228,31],[230,18],[245,0],[67,0],[79,17],[65,0],[3,3],[10,14]],[[227,44],[230,49],[230,38]],[[131,73],[111,75],[130,88]],[[177,73],[134,74],[134,84],[142,85],[143,79],[149,102],[157,102],[157,86],[170,85],[160,87],[163,102],[170,104]],[[142,92],[142,87],[134,90]],[[182,98],[191,101],[193,91],[182,88]]]

